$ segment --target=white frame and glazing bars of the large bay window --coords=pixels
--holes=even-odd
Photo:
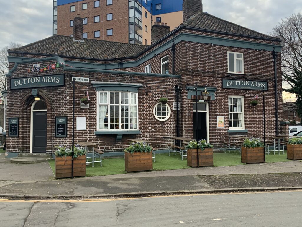
[[[129,120],[128,120],[128,124],[129,124],[129,128],[128,129],[121,129],[120,128],[120,122],[121,122],[121,108],[120,106],[122,104],[120,104],[120,93],[121,92],[127,92],[127,91],[117,91],[119,92],[119,96],[118,96],[118,122],[119,122],[119,128],[118,129],[109,129],[110,127],[110,92],[115,92],[115,91],[97,91],[97,123],[96,123],[96,128],[97,131],[137,131],[139,130],[139,119],[138,119],[138,92],[128,92],[128,105],[129,105]],[[100,93],[107,93],[107,103],[100,103]],[[131,94],[136,94],[136,104],[131,104]],[[99,106],[100,105],[108,105],[108,129],[99,129]],[[112,104],[113,105],[113,104]],[[126,106],[126,105],[122,105],[122,106]],[[130,106],[136,106],[136,128],[135,129],[130,129]]]

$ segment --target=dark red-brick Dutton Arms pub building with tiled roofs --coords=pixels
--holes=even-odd
[[[165,137],[193,138],[196,83],[200,138],[219,147],[227,135],[263,135],[263,90],[266,135],[281,133],[281,40],[204,13],[201,0],[184,0],[183,21],[171,32],[153,25],[163,36],[145,46],[83,39],[78,16],[73,37],[9,50],[7,152],[71,146],[72,77],[79,77],[75,142],[91,141],[104,152],[122,151],[130,138],[162,150],[171,142]]]

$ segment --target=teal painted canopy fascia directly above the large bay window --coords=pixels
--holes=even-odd
[[[129,91],[137,92],[139,88],[142,88],[142,84],[123,84],[123,83],[93,83],[93,87],[96,88],[97,91]]]

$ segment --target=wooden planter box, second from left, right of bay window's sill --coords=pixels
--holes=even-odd
[[[152,152],[125,152],[125,170],[127,172],[146,171],[153,169]]]

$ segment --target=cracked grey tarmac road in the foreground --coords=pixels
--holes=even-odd
[[[158,196],[137,199],[0,199],[2,227],[301,226],[302,191]]]

